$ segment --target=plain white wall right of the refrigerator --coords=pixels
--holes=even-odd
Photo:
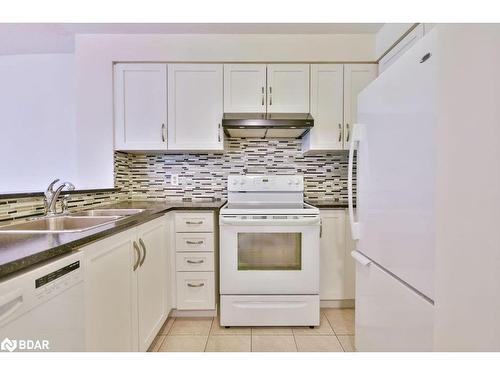
[[[500,351],[500,25],[438,30],[435,349]]]

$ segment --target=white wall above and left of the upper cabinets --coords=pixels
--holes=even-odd
[[[372,62],[373,34],[77,35],[78,171],[113,186],[113,62]]]

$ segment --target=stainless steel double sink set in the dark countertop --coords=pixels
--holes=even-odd
[[[139,214],[143,209],[99,208],[58,216],[45,216],[22,223],[0,227],[0,233],[73,233]]]

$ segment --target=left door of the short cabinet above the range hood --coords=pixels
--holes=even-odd
[[[266,112],[266,65],[224,65],[224,112]]]

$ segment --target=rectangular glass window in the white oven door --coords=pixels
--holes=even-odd
[[[302,267],[302,233],[238,233],[238,270],[296,271]]]

